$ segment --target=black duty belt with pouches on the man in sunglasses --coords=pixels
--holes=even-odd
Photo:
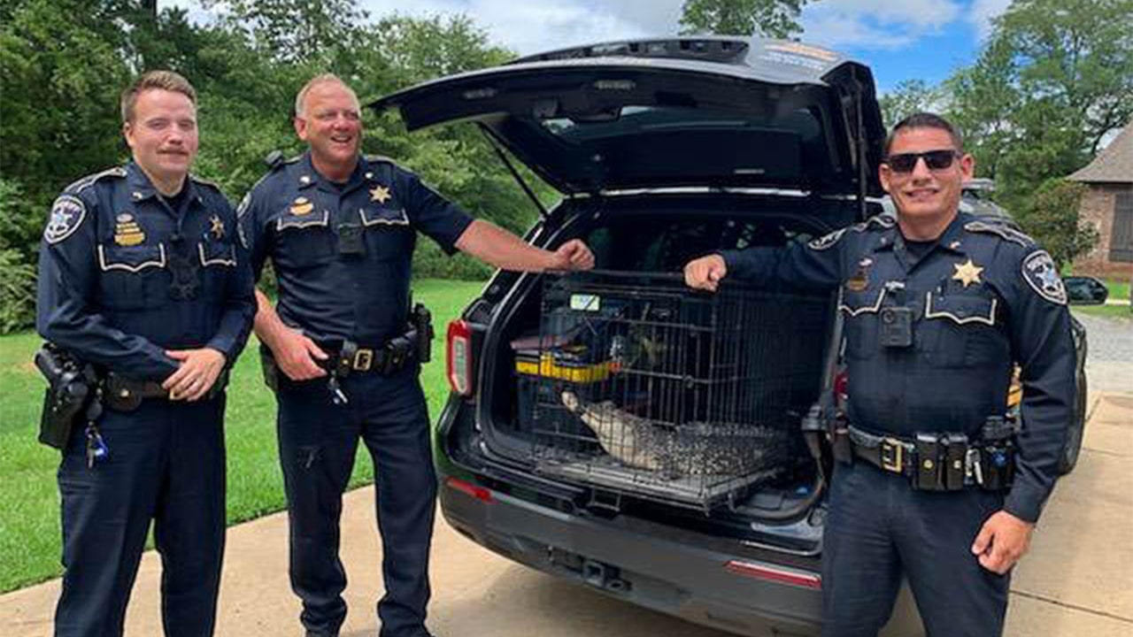
[[[1010,434],[985,436],[974,443],[961,433],[919,433],[910,440],[875,435],[851,426],[849,439],[854,458],[901,474],[918,490],[960,491],[981,486],[999,491],[1011,486],[1014,477],[1014,444]]]

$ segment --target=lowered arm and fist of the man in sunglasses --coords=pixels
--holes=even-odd
[[[1026,551],[1030,532],[1054,490],[1076,391],[1070,311],[1055,264],[1033,245],[1019,263],[1015,286],[1005,290],[1013,297],[1006,299],[1011,342],[1023,383],[1015,481],[1004,511],[988,519],[972,545],[980,563],[996,572],[1006,572]],[[1015,537],[997,546],[996,536],[1005,533]]]

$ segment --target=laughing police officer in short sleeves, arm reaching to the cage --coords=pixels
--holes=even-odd
[[[579,240],[531,247],[391,161],[359,155],[358,99],[333,75],[313,78],[295,112],[308,151],[275,165],[239,212],[255,271],[270,256],[279,280],[278,308],[257,292],[255,325],[278,379],[291,586],[307,634],[337,635],[347,612],[339,518],[361,439],[377,483],[381,635],[424,637],[436,476],[415,354],[426,330],[407,326],[416,232],[512,270],[586,269],[594,256]]]

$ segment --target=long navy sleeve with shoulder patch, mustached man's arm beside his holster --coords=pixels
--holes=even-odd
[[[94,301],[97,202],[84,193],[65,193],[52,206],[52,220],[40,249],[36,331],[44,339],[108,371],[161,382],[178,363],[150,340],[110,325]],[[69,226],[52,224],[65,223]]]

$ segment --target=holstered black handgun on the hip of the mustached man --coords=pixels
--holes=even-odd
[[[99,375],[84,363],[52,343],[35,353],[35,366],[48,380],[40,416],[40,442],[65,449],[78,416],[95,397]]]

